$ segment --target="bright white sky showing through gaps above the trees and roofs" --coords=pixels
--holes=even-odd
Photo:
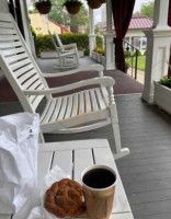
[[[27,1],[29,5],[31,5],[31,3],[30,3],[31,0],[26,0],[26,1]],[[140,11],[141,4],[148,3],[150,1],[153,1],[153,0],[136,0],[134,13],[137,11]],[[101,22],[101,9],[94,10],[94,22],[95,23]]]

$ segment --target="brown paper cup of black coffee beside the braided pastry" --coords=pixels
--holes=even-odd
[[[116,173],[106,165],[92,165],[82,171],[82,188],[90,219],[109,219],[113,209]]]

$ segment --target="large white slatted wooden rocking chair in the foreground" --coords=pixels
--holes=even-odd
[[[103,77],[101,65],[80,68],[61,73],[42,73],[31,55],[13,18],[0,13],[0,67],[16,93],[24,111],[35,113],[44,96],[47,104],[41,115],[42,132],[79,132],[111,124],[115,140],[114,157],[129,153],[121,148],[117,111],[114,102],[114,80]],[[48,88],[46,77],[69,76],[76,72],[95,70],[98,78],[79,81],[60,88]],[[86,85],[99,87],[71,93]],[[71,94],[53,97],[52,94],[70,91]],[[105,154],[104,154],[105,155]]]

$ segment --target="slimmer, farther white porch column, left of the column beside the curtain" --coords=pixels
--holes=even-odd
[[[94,34],[94,13],[93,10],[89,8],[89,48],[90,48],[90,57],[92,56],[92,50],[96,46],[95,34]]]

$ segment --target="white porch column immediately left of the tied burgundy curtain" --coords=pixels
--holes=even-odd
[[[115,69],[114,33],[112,30],[112,1],[106,0],[105,69]]]

